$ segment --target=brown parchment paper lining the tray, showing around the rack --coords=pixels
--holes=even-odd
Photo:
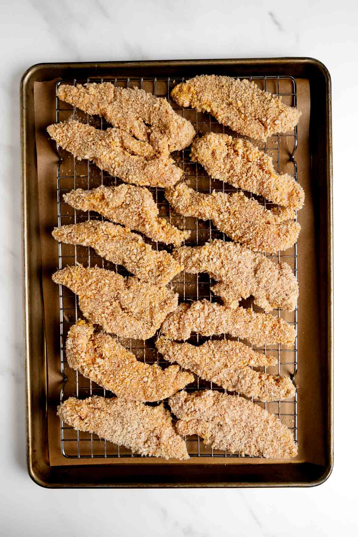
[[[155,458],[125,459],[69,459],[61,453],[60,420],[56,408],[60,401],[63,378],[60,369],[60,316],[59,289],[52,282],[51,276],[57,270],[58,245],[51,235],[57,226],[57,182],[56,166],[59,157],[55,144],[49,139],[46,127],[56,121],[55,91],[57,81],[35,82],[35,136],[36,159],[38,166],[40,241],[42,255],[42,288],[45,307],[45,333],[48,367],[48,438],[49,460],[52,466],[72,464],[162,464],[166,461]],[[319,299],[318,269],[316,263],[315,213],[313,211],[312,181],[310,177],[309,153],[309,117],[310,92],[309,82],[297,79],[298,108],[302,117],[298,124],[298,148],[296,162],[298,181],[305,190],[305,205],[298,214],[302,230],[298,238],[298,371],[296,383],[298,389],[298,456],[291,461],[316,464],[324,463],[323,453],[323,396],[320,383],[319,355]],[[288,142],[289,145],[289,142]],[[282,147],[281,155],[285,148]],[[289,153],[289,147],[287,147]],[[292,164],[281,172],[293,173]],[[78,185],[79,186],[79,185]],[[269,407],[268,407],[269,410]],[[281,412],[283,410],[281,409]],[[192,458],[189,461],[170,461],[178,464],[269,464],[266,459],[249,458]],[[277,462],[277,461],[275,461]]]

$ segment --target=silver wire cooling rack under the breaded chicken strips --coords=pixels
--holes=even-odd
[[[240,77],[238,77],[240,78]],[[244,77],[243,77],[244,78]],[[187,120],[191,121],[196,132],[203,134],[206,132],[217,132],[231,134],[237,136],[228,127],[219,124],[215,118],[208,114],[195,112],[194,110],[178,107],[170,98],[172,88],[179,82],[184,82],[186,77],[178,78],[106,78],[106,82],[112,82],[116,86],[127,88],[140,88],[154,93],[157,97],[166,98],[174,110],[182,115]],[[282,96],[284,103],[290,106],[297,106],[297,89],[296,81],[290,76],[261,76],[249,77],[253,80],[260,89],[270,91]],[[88,78],[86,80],[71,79],[61,81],[60,84],[84,84],[87,82],[103,82],[103,78]],[[64,121],[70,117],[82,120],[100,129],[107,128],[107,124],[103,118],[92,117],[84,112],[79,111],[71,105],[62,103],[56,97],[56,121]],[[110,126],[110,125],[109,125]],[[242,137],[242,136],[239,136]],[[247,137],[245,137],[247,139]],[[295,151],[297,148],[297,127],[293,132],[287,134],[279,134],[271,136],[267,143],[255,142],[261,150],[270,154],[273,158],[273,163],[277,172],[289,172],[297,180],[297,163],[295,161]],[[103,220],[103,217],[97,213],[76,211],[63,201],[63,194],[69,192],[73,188],[95,188],[99,185],[119,185],[121,180],[117,177],[109,176],[106,172],[101,171],[96,165],[89,161],[76,161],[76,159],[57,147],[59,151],[59,164],[57,166],[57,207],[58,207],[58,225],[83,222],[85,220]],[[195,190],[205,193],[210,193],[214,190],[222,192],[235,192],[238,189],[233,188],[221,181],[211,179],[206,171],[197,163],[190,161],[190,149],[187,148],[178,151],[173,155],[177,161],[177,165],[183,170],[183,179]],[[197,246],[204,244],[214,238],[221,238],[225,241],[230,240],[221,231],[218,231],[210,221],[202,221],[193,217],[184,217],[174,213],[164,197],[163,188],[151,188],[154,199],[159,207],[159,216],[169,220],[172,224],[191,231],[191,235],[185,244]],[[245,194],[252,198],[251,193]],[[273,204],[269,204],[262,198],[257,198],[265,207],[272,208]],[[297,215],[296,215],[297,218]],[[162,250],[170,249],[164,244],[153,243],[143,236],[144,241],[151,244],[153,248]],[[297,278],[297,244],[286,250],[284,253],[276,252],[274,255],[268,256],[273,262],[280,263],[284,261],[288,263],[294,271]],[[92,248],[84,246],[71,246],[67,244],[59,244],[59,268],[67,265],[82,263],[84,266],[98,265],[108,270],[114,270],[122,275],[128,275],[128,272],[121,266],[114,265],[99,257]],[[179,293],[179,302],[208,299],[210,301],[218,301],[217,297],[210,292],[211,279],[207,274],[188,274],[180,273],[174,278],[170,284],[171,288]],[[254,310],[260,311],[253,304],[252,298],[242,301],[242,306],[253,307]],[[291,376],[295,381],[297,373],[297,307],[288,313],[276,309],[272,312],[273,315],[284,318],[290,324],[295,325],[296,339],[294,349],[287,349],[283,345],[273,345],[264,347],[251,347],[258,352],[275,355],[277,365],[274,367],[259,368],[259,371],[265,371],[272,374],[281,374]],[[72,324],[78,318],[81,318],[81,310],[78,308],[77,297],[67,287],[60,285],[60,341],[61,341],[61,372],[63,374],[63,388],[61,390],[61,402],[70,396],[79,398],[88,397],[90,395],[111,396],[112,394],[98,386],[96,383],[85,379],[81,374],[71,369],[65,357],[65,340],[67,332]],[[217,339],[222,339],[227,336],[222,335]],[[157,363],[162,367],[169,366],[169,362],[163,360],[156,351],[156,337],[145,342],[134,339],[121,339],[121,344],[127,347],[136,355],[138,360],[147,362],[148,364]],[[191,336],[192,343],[203,343],[205,337],[193,333]],[[231,338],[233,339],[233,338]],[[185,389],[216,389],[225,391],[215,384],[204,381],[196,375],[195,381]],[[297,391],[295,397],[285,401],[273,402],[255,402],[261,407],[274,413],[281,421],[286,424],[294,433],[295,441],[297,442]],[[191,457],[247,457],[240,453],[227,454],[218,449],[211,449],[203,445],[202,440],[197,436],[187,437],[186,444],[188,453]],[[111,442],[100,439],[96,434],[83,433],[75,431],[72,427],[67,426],[61,421],[61,451],[68,458],[128,458],[139,457],[133,455],[128,449],[121,446],[116,446]]]

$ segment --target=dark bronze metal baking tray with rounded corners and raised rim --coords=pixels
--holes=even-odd
[[[315,401],[315,419],[322,424],[322,435],[316,439],[321,442],[318,451],[324,453],[319,458],[319,463],[312,461],[295,460],[287,463],[267,462],[262,463],[261,459],[247,460],[247,458],[238,455],[228,455],[224,452],[205,449],[202,442],[198,440],[189,440],[188,452],[191,455],[189,463],[176,464],[166,462],[153,464],[150,458],[144,461],[136,461],[133,455],[126,450],[119,448],[111,449],[106,442],[96,439],[96,449],[93,448],[94,439],[88,436],[80,438],[76,436],[66,438],[67,427],[61,424],[61,451],[63,454],[63,465],[51,466],[49,463],[48,447],[48,426],[47,410],[49,404],[54,404],[52,394],[48,393],[48,363],[46,360],[46,341],[43,329],[43,304],[42,304],[42,287],[41,277],[42,261],[40,252],[40,240],[38,234],[39,221],[39,204],[38,188],[34,143],[34,101],[33,101],[33,84],[34,82],[48,81],[54,78],[60,78],[67,83],[96,81],[102,78],[111,79],[118,85],[131,86],[135,84],[144,87],[156,95],[169,98],[170,86],[174,81],[181,81],[182,78],[189,78],[196,74],[224,74],[236,77],[250,77],[262,89],[270,86],[269,91],[280,93],[288,96],[292,104],[297,102],[297,85],[296,79],[308,79],[310,86],[310,177],[315,178],[315,184],[312,184],[313,210],[319,215],[315,220],[315,248],[316,248],[316,270],[319,282],[318,294],[312,304],[316,307],[315,311],[309,311],[309,315],[317,314],[319,317],[319,326],[317,326],[316,337],[319,340],[319,352],[311,357],[310,364],[303,361],[301,382],[305,381],[305,375],[313,376],[319,373],[321,382],[324,379],[324,386],[321,386],[319,398]],[[60,83],[61,83],[60,81]],[[144,86],[143,86],[144,81]],[[283,84],[285,82],[286,84]],[[150,86],[150,87],[149,87]],[[132,86],[133,87],[133,86]],[[281,88],[284,88],[281,90]],[[56,120],[61,120],[61,108],[59,101],[54,96],[54,106],[56,106]],[[63,111],[64,112],[64,111]],[[187,119],[193,121],[196,130],[216,130],[222,132],[222,126],[215,124],[210,118],[202,117],[191,111],[183,111],[187,114]],[[101,123],[102,125],[102,123]],[[227,131],[225,131],[227,132]],[[314,135],[313,135],[314,133]],[[271,144],[268,143],[263,147],[273,155],[276,168],[280,170],[280,162],[288,158],[293,164],[291,173],[297,179],[297,163],[294,153],[297,147],[299,137],[297,128],[292,136],[292,151],[286,157],[280,155],[280,136],[273,137]],[[285,136],[286,137],[286,136]],[[287,137],[286,137],[287,138]],[[287,141],[287,140],[286,140]],[[273,147],[270,147],[273,146]],[[318,61],[312,59],[262,59],[262,60],[204,60],[204,61],[165,61],[165,62],[114,62],[114,63],[71,63],[71,64],[39,64],[33,66],[23,76],[21,81],[21,147],[23,161],[23,233],[24,233],[24,327],[25,327],[25,369],[26,369],[26,401],[27,401],[27,455],[28,471],[36,483],[46,487],[252,487],[252,486],[307,486],[323,482],[330,475],[333,464],[333,442],[332,442],[332,138],[331,138],[331,85],[330,75],[326,68]],[[284,153],[284,151],[282,151]],[[76,163],[70,172],[70,179],[73,185],[69,183],[69,177],[63,176],[60,163],[57,166],[57,194],[61,199],[61,179],[64,179],[65,187],[82,186],[77,181],[85,180],[89,186],[91,176],[87,168],[87,177],[85,174],[76,174]],[[182,152],[182,168],[185,175],[191,178],[198,187],[208,186],[203,184],[205,179],[198,175],[198,166],[192,166],[188,162],[186,152]],[[210,181],[208,179],[208,181]],[[106,184],[106,177],[101,175],[101,182]],[[165,200],[161,189],[152,189],[156,201],[163,205],[163,214],[165,214]],[[227,189],[229,190],[229,189]],[[159,191],[159,192],[158,192]],[[56,200],[54,200],[56,203]],[[70,223],[71,216],[64,216],[61,213],[61,204],[58,204],[59,224]],[[65,214],[65,213],[64,213]],[[166,212],[167,217],[172,219],[170,211]],[[176,216],[173,216],[174,219]],[[72,217],[73,218],[73,217]],[[76,218],[76,216],[75,216]],[[189,226],[192,229],[193,239],[190,243],[200,244],[206,242],[211,237],[221,236],[218,232],[208,225],[198,228],[198,221],[189,220]],[[186,222],[184,221],[184,224]],[[82,252],[83,255],[83,252]],[[291,262],[296,275],[298,267],[297,245],[290,252],[285,252],[287,262]],[[72,257],[72,258],[71,258]],[[61,263],[73,264],[78,254],[76,247],[71,255],[63,255],[61,246],[59,249],[58,265]],[[91,263],[91,253],[88,251],[88,262]],[[280,252],[276,255],[280,260]],[[94,263],[98,259],[94,258]],[[92,262],[93,264],[93,262]],[[300,283],[302,284],[301,280]],[[192,297],[210,297],[208,278],[192,278],[190,281],[183,279],[173,283],[174,289],[179,292],[181,297],[189,299]],[[304,286],[301,285],[301,294],[304,293]],[[187,296],[185,296],[187,294]],[[189,296],[188,296],[189,295]],[[193,295],[193,296],[191,296]],[[214,298],[215,300],[215,298]],[[63,357],[65,325],[69,315],[71,320],[77,317],[76,302],[70,307],[65,307],[66,292],[60,289],[60,326],[61,331],[61,372],[65,375],[65,358]],[[67,305],[70,303],[68,297]],[[311,308],[309,308],[311,309]],[[301,310],[300,310],[301,311]],[[280,312],[278,312],[280,315]],[[304,323],[309,322],[307,319],[308,312],[304,314]],[[297,309],[293,318],[288,319],[293,322],[298,329]],[[303,325],[304,331],[304,325]],[[299,338],[298,338],[299,340]],[[129,344],[131,346],[131,342]],[[147,361],[150,362],[154,357],[152,352],[153,345],[143,345],[139,348],[132,348],[136,354],[142,357],[147,352]],[[266,349],[263,349],[266,352]],[[270,349],[270,352],[272,350]],[[284,356],[284,349],[277,347],[276,352],[279,357]],[[292,358],[281,358],[286,367],[291,366],[291,374],[297,373],[298,361],[302,360],[297,351],[297,341],[292,352],[288,353]],[[149,358],[148,358],[149,355]],[[297,360],[298,358],[298,360]],[[154,358],[153,358],[154,359]],[[291,360],[291,361],[289,361]],[[304,357],[303,357],[304,360]],[[160,362],[159,362],[160,363]],[[301,364],[300,364],[301,370]],[[278,371],[280,372],[280,370]],[[75,386],[68,382],[64,384],[61,390],[61,397],[69,388],[67,396],[82,391],[82,396],[90,395],[92,386],[79,386],[78,374],[75,375]],[[210,387],[208,384],[201,384],[198,379],[195,388],[202,389]],[[88,393],[87,393],[88,392]],[[303,404],[308,404],[303,401]],[[273,408],[273,405],[275,407]],[[265,404],[266,407],[266,404]],[[285,408],[286,407],[286,408]],[[297,394],[294,401],[288,404],[285,402],[271,403],[268,408],[271,412],[277,414],[277,417],[287,421],[288,426],[293,429],[295,440],[299,439],[298,426],[305,428],[304,416],[299,419],[297,410]],[[319,414],[317,414],[317,412]],[[60,425],[59,425],[60,426]],[[303,439],[304,441],[304,439]],[[109,443],[108,443],[109,444]],[[91,465],[68,464],[68,459],[92,459]],[[96,460],[93,460],[96,459]],[[104,459],[107,459],[104,463]],[[111,459],[111,464],[108,464]],[[194,460],[195,459],[195,460]],[[71,461],[74,462],[74,461]],[[127,464],[126,464],[127,462]],[[128,464],[130,462],[130,464]],[[141,464],[136,463],[141,462]]]

